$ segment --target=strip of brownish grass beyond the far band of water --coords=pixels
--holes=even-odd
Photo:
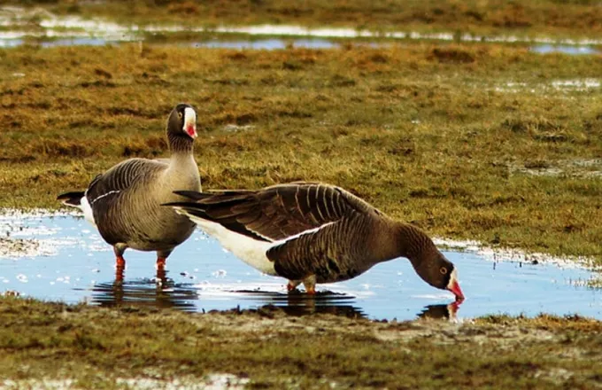
[[[3,0],[2,4],[23,6],[23,2]],[[521,3],[504,0],[465,2],[340,0],[321,2],[279,2],[276,0],[219,0],[212,2],[146,0],[29,1],[27,8],[70,18],[97,20],[99,17],[122,24],[184,27],[221,25],[301,25],[305,27],[353,27],[456,34],[547,35],[575,38],[595,37],[602,31],[597,0],[560,2],[529,0]],[[9,10],[10,11],[10,10]],[[35,32],[40,16],[26,18]]]

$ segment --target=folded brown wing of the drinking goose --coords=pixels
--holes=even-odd
[[[289,183],[259,191],[186,192],[195,202],[171,203],[187,214],[218,222],[228,230],[274,242],[337,222],[351,213],[379,213],[364,200],[336,186]]]

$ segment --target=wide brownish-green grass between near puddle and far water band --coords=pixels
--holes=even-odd
[[[0,58],[0,207],[56,208],[120,160],[165,156],[185,101],[205,189],[319,180],[433,235],[602,258],[600,167],[579,165],[602,154],[602,95],[553,84],[598,80],[596,56],[425,43]],[[544,168],[560,172],[532,175]]]

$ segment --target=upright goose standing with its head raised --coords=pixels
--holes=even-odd
[[[157,251],[158,269],[195,229],[195,224],[162,203],[183,200],[175,190],[201,191],[197,162],[192,154],[197,137],[197,113],[190,105],[176,105],[167,120],[169,159],[130,159],[97,175],[86,191],[58,196],[78,207],[113,246],[118,272],[125,267],[127,248]],[[118,274],[119,275],[119,274]]]

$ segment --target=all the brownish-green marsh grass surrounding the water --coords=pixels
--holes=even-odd
[[[136,23],[567,37],[602,29],[593,1],[155,3],[31,2]],[[599,54],[542,55],[518,44],[237,51],[34,41],[0,49],[0,207],[56,209],[59,192],[84,188],[120,160],[165,156],[166,115],[184,101],[197,108],[206,189],[335,183],[434,236],[599,264],[600,74]],[[3,298],[0,323],[0,378],[17,387],[30,378],[197,383],[216,372],[274,388],[602,384],[601,325],[579,317],[382,324],[269,308],[185,315]]]

